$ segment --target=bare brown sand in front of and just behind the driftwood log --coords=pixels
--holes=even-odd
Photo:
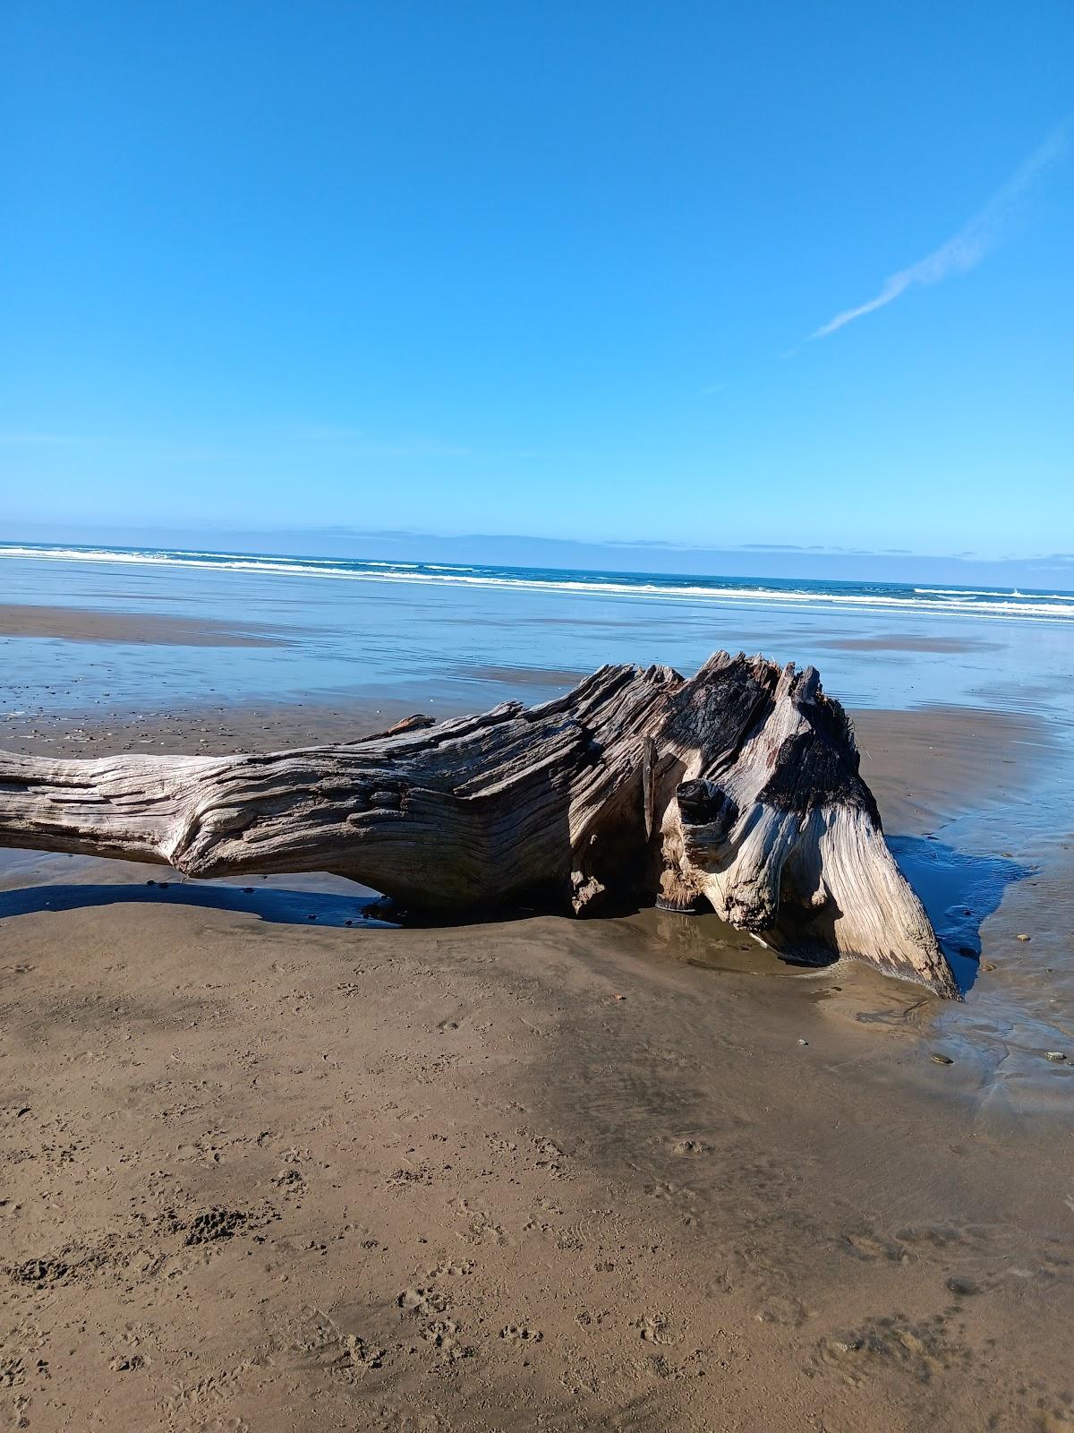
[[[995,712],[858,728],[922,844],[1048,759]],[[339,881],[9,854],[0,1429],[1074,1429],[1074,1049],[1008,1050],[1012,1093],[974,1035],[990,982],[1068,940],[1061,867],[1034,878],[1048,920],[1012,886],[944,1009],[715,917],[395,930]]]

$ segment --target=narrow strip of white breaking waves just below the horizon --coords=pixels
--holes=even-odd
[[[125,566],[195,567],[206,572],[276,573],[302,577],[335,577],[344,582],[412,582],[465,588],[505,588],[527,592],[570,592],[597,596],[649,598],[666,602],[772,603],[785,608],[833,605],[869,610],[945,612],[958,616],[1025,618],[1031,620],[1074,619],[1074,593],[1022,596],[1015,592],[965,588],[914,588],[908,595],[879,592],[808,590],[802,588],[674,585],[626,582],[601,577],[544,577],[516,569],[478,572],[448,565],[395,563],[384,560],[347,562],[335,557],[276,557],[251,553],[198,553],[163,550],[120,550],[110,547],[33,547],[0,545],[0,557],[46,562],[93,562]],[[720,579],[713,579],[713,583]]]

